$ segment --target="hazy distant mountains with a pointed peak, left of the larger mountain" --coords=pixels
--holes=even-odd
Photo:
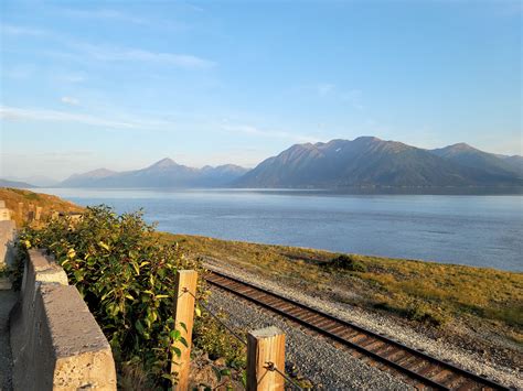
[[[220,187],[231,184],[247,172],[237,165],[193,169],[171,159],[141,170],[114,172],[106,169],[75,174],[61,187]]]

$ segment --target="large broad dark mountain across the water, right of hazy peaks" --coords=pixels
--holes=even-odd
[[[345,188],[523,185],[523,180],[514,172],[500,167],[498,160],[489,164],[488,156],[483,156],[484,162],[479,159],[478,162],[469,159],[468,164],[458,162],[457,153],[451,152],[459,149],[427,151],[373,137],[296,144],[258,164],[238,178],[234,186]]]

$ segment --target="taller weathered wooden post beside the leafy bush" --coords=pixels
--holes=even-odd
[[[185,338],[188,347],[179,344],[181,350],[180,358],[173,357],[171,362],[171,373],[178,373],[178,384],[174,390],[185,391],[189,389],[189,369],[191,365],[191,343],[192,343],[192,326],[194,321],[194,296],[196,295],[198,272],[194,270],[180,270],[177,275],[178,297],[174,304],[174,322],[177,329],[182,333]],[[192,294],[191,294],[192,293]],[[186,333],[180,324],[184,324]]]

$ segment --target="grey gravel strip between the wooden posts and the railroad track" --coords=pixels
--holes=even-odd
[[[271,316],[235,295],[213,287],[209,301],[213,312],[228,314],[227,323],[245,329],[277,326],[286,334],[286,361],[293,362],[301,373],[325,390],[409,390],[412,387],[389,373],[365,365],[348,351],[313,333],[305,333],[280,316]]]

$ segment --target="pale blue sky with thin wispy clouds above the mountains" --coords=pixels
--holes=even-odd
[[[0,177],[375,135],[522,154],[520,1],[0,4]]]

